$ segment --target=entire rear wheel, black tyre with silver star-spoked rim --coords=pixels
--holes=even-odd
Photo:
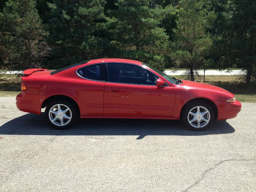
[[[50,126],[58,130],[63,130],[70,128],[76,122],[78,111],[70,102],[55,100],[46,106],[45,117]]]

